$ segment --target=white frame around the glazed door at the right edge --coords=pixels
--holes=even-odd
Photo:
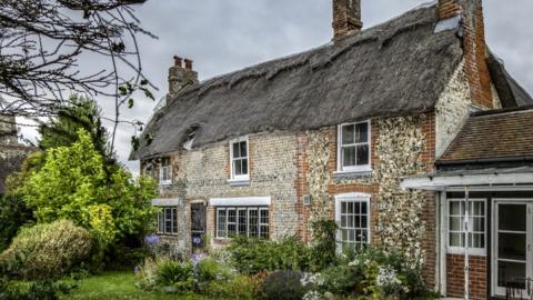
[[[525,259],[526,259],[526,278],[533,278],[533,252],[531,244],[533,243],[533,200],[527,198],[494,198],[492,201],[492,222],[491,222],[491,293],[492,296],[505,296],[505,289],[497,287],[497,224],[499,224],[499,204],[521,204],[526,207],[526,241],[525,241]],[[525,291],[524,291],[525,292]]]

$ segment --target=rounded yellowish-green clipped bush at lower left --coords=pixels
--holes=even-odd
[[[91,236],[67,220],[23,228],[0,254],[0,263],[22,279],[50,279],[68,273],[88,259]]]

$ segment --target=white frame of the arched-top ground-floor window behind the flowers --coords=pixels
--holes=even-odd
[[[372,243],[372,230],[371,230],[371,218],[372,209],[370,206],[371,194],[361,193],[361,192],[351,192],[351,193],[341,193],[335,196],[335,222],[339,226],[336,231],[336,246],[339,250],[342,250],[343,241],[341,233],[341,216],[342,216],[342,203],[353,202],[353,203],[366,203],[366,246]],[[363,228],[360,228],[363,229]],[[355,244],[355,243],[354,243]]]

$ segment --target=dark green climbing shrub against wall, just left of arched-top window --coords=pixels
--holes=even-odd
[[[332,220],[318,220],[311,224],[314,234],[311,248],[311,269],[320,271],[336,261],[335,233],[338,226]]]

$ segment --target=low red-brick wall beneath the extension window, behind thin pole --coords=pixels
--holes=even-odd
[[[486,258],[470,257],[470,297],[486,299]],[[449,297],[464,297],[464,256],[446,254],[446,290]]]

